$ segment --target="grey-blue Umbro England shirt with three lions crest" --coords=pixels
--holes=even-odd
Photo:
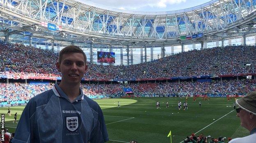
[[[99,105],[80,95],[71,103],[57,85],[26,105],[12,143],[104,143],[108,134]]]

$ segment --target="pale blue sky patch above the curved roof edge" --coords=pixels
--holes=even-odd
[[[107,7],[130,11],[174,11],[186,9],[211,0],[86,0]]]

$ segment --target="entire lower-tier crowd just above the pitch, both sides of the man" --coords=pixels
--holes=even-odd
[[[53,83],[24,84],[0,83],[0,102],[29,100],[33,96],[51,89]],[[256,80],[223,80],[210,82],[174,82],[174,83],[137,83],[123,84],[81,84],[84,94],[91,98],[109,98],[123,96],[123,87],[133,89],[134,95],[178,96],[179,93],[192,95],[245,95],[256,91]]]

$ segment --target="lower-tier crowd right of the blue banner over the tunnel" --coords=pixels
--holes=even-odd
[[[223,95],[245,95],[245,93],[256,91],[256,80],[223,80],[213,82],[174,82],[174,83],[143,83],[131,84],[130,87],[136,94],[154,93],[157,95],[178,93],[190,93],[193,95],[223,94]]]

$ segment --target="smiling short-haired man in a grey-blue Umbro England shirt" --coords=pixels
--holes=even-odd
[[[87,71],[77,46],[59,52],[61,82],[26,105],[12,143],[104,143],[108,134],[99,105],[84,96],[80,82]]]

